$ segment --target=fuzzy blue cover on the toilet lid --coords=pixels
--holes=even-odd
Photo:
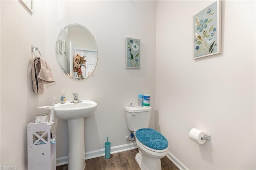
[[[152,128],[141,128],[137,130],[136,138],[140,143],[155,150],[163,150],[168,147],[168,141],[164,135]]]

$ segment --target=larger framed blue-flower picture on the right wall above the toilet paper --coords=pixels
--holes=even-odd
[[[221,1],[194,15],[193,59],[221,53]]]

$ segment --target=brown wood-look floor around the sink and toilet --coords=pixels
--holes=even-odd
[[[111,154],[109,159],[104,156],[86,160],[86,170],[140,170],[135,160],[138,149]],[[179,170],[166,156],[161,159],[162,170]],[[57,166],[57,170],[67,170],[68,164]]]

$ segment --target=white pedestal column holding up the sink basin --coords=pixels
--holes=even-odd
[[[68,120],[68,169],[84,170],[84,118]]]

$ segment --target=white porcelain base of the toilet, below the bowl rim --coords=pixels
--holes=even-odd
[[[161,160],[160,159],[152,159],[143,154],[142,152],[136,154],[135,160],[140,166],[141,170],[161,170]]]

